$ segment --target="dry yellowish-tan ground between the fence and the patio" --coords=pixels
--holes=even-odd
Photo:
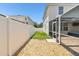
[[[18,56],[70,56],[64,47],[46,40],[32,39],[18,54]]]

